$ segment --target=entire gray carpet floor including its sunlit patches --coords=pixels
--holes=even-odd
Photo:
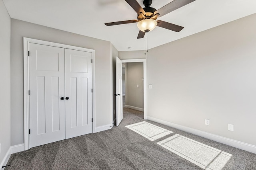
[[[118,127],[12,154],[9,164],[5,170],[256,170],[256,154],[124,108]]]

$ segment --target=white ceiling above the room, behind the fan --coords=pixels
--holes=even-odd
[[[106,26],[104,23],[136,20],[125,0],[3,0],[11,18],[110,41],[118,51],[144,50],[137,39],[136,23]],[[152,0],[158,10],[172,0]],[[138,0],[143,6],[143,0]],[[196,0],[158,20],[183,26],[176,33],[156,27],[148,33],[148,49],[256,13],[256,0]],[[132,47],[132,49],[128,49]]]

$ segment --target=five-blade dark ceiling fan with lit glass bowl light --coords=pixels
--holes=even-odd
[[[152,4],[152,0],[143,1],[145,8],[142,8],[136,0],[125,0],[125,1],[132,7],[132,9],[134,9],[135,12],[137,12],[138,20],[110,22],[110,23],[105,23],[105,25],[111,26],[111,25],[120,25],[125,23],[138,22],[137,26],[140,29],[140,32],[137,38],[139,39],[139,38],[143,38],[146,32],[153,30],[156,26],[170,29],[176,32],[181,31],[184,27],[175,25],[173,23],[161,21],[161,20],[156,21],[156,19],[182,6],[185,6],[186,4],[189,4],[195,0],[173,0],[172,2],[163,6],[159,10],[156,10],[155,8],[150,7]]]

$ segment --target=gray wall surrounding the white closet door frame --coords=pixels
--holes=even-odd
[[[11,145],[24,143],[23,37],[95,49],[96,127],[109,125],[112,113],[111,43],[42,25],[11,20]]]

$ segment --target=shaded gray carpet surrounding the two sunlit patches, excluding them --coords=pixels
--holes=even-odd
[[[186,158],[157,143],[182,135],[202,145],[231,154],[223,170],[256,170],[256,154],[236,149],[165,125],[146,121],[173,133],[150,141],[125,127],[145,121],[143,113],[124,108],[118,127],[12,154],[6,170],[202,170]],[[192,147],[192,146],[191,146]],[[207,168],[206,168],[207,169]],[[208,168],[210,169],[210,168]]]

